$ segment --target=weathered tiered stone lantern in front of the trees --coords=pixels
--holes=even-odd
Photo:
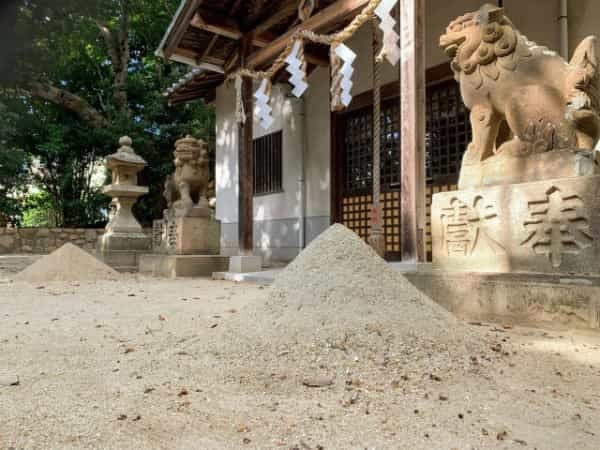
[[[131,147],[127,136],[119,140],[121,147],[106,158],[106,167],[112,171],[112,183],[103,193],[112,198],[106,233],[98,240],[100,257],[107,264],[121,270],[136,270],[140,253],[152,247],[152,239],[146,236],[133,215],[133,205],[148,188],[138,186],[138,173],[147,163]]]

